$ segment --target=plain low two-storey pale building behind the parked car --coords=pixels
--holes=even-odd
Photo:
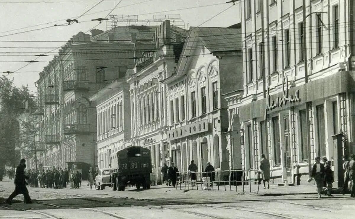
[[[118,168],[116,153],[130,146],[131,105],[129,84],[116,79],[90,97],[96,103],[99,168]]]

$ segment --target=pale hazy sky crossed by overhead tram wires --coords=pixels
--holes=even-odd
[[[16,71],[28,64],[24,61],[37,58],[34,55],[44,54],[65,44],[80,31],[87,32],[99,24],[91,19],[104,18],[119,1],[104,0],[91,9],[100,0],[0,0],[0,72]],[[111,14],[138,15],[139,20],[153,19],[153,15],[180,15],[186,29],[202,23],[202,27],[228,27],[239,23],[240,4],[232,6],[233,4],[225,2],[226,0],[121,0]],[[77,18],[89,9],[91,10],[78,19],[79,23],[54,26],[66,23],[68,18]],[[164,12],[168,10],[173,11]],[[211,19],[218,13],[218,16]],[[157,23],[151,23],[154,24]],[[105,22],[95,28],[107,30]],[[28,30],[33,31],[20,33]],[[49,54],[50,56],[39,57],[36,60],[39,62],[29,63],[15,73],[2,74],[13,78],[17,86],[28,85],[35,92],[37,89],[34,82],[39,78],[38,73],[58,54],[58,49]]]

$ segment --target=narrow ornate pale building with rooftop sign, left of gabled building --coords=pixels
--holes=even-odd
[[[127,71],[132,144],[149,148],[152,164],[158,170],[164,163],[170,163],[170,144],[166,135],[169,130],[167,86],[162,81],[174,72],[186,34],[187,30],[171,25],[169,20],[162,22],[155,27],[155,37],[149,42],[151,51],[137,51],[140,56],[135,66]]]

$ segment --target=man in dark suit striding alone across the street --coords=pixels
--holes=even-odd
[[[28,195],[27,190],[27,182],[26,179],[29,179],[28,176],[24,175],[24,168],[26,168],[26,160],[21,159],[20,164],[16,168],[16,175],[15,175],[15,191],[11,193],[9,198],[5,200],[4,203],[11,204],[11,200],[15,198],[18,194],[23,194],[24,203],[31,204],[31,198]]]

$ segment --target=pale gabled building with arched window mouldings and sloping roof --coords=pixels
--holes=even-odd
[[[222,94],[242,88],[241,30],[191,27],[168,86],[171,160],[187,171],[193,159],[199,171],[210,161],[217,170],[230,165],[227,103]],[[237,151],[237,150],[236,150]]]

